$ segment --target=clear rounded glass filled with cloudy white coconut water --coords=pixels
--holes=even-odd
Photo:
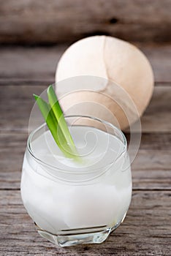
[[[81,155],[62,156],[46,124],[28,137],[21,177],[23,205],[38,233],[59,246],[99,244],[126,216],[132,176],[120,129],[91,116],[66,116]]]

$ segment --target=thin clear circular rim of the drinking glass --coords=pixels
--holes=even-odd
[[[61,172],[63,172],[63,173],[83,174],[83,173],[90,173],[90,172],[92,172],[92,171],[96,171],[96,170],[102,169],[102,168],[104,168],[104,167],[107,168],[107,167],[109,167],[110,165],[113,165],[114,162],[118,161],[118,159],[120,159],[120,158],[122,157],[122,155],[123,155],[124,153],[126,153],[126,151],[127,151],[127,140],[126,140],[125,135],[123,134],[123,132],[121,131],[121,129],[119,129],[118,127],[115,127],[115,125],[111,124],[110,122],[104,121],[104,120],[102,120],[101,118],[96,118],[95,116],[86,116],[86,115],[69,115],[69,116],[64,116],[64,117],[65,117],[65,118],[77,118],[77,117],[89,118],[89,119],[94,120],[94,121],[99,121],[99,122],[101,122],[101,123],[104,124],[104,125],[113,127],[113,129],[117,130],[118,133],[119,133],[119,135],[121,135],[121,138],[123,139],[123,141],[122,141],[122,142],[123,142],[123,151],[121,151],[121,153],[118,154],[118,157],[117,157],[115,160],[112,160],[112,161],[109,162],[107,165],[102,165],[101,167],[91,168],[90,166],[88,166],[88,168],[89,168],[90,170],[86,170],[86,171],[83,171],[83,172],[81,172],[81,173],[80,173],[80,168],[82,168],[82,166],[77,166],[77,167],[75,167],[75,169],[79,169],[79,170],[64,170],[64,168],[56,167],[56,166],[54,166],[54,165],[50,165],[50,164],[48,164],[47,162],[42,161],[42,159],[39,159],[38,157],[35,156],[34,151],[33,151],[32,148],[31,148],[31,138],[34,136],[34,134],[35,134],[36,132],[39,131],[39,129],[41,129],[42,127],[47,126],[47,124],[44,123],[44,124],[42,124],[40,127],[37,127],[37,129],[34,129],[34,130],[30,133],[30,135],[28,135],[28,140],[27,140],[27,146],[26,146],[26,147],[28,148],[29,154],[31,154],[31,157],[33,157],[36,162],[38,162],[38,163],[40,163],[40,164],[42,164],[42,165],[45,165],[45,166],[47,166],[47,167],[56,169],[56,170],[58,170],[58,171],[61,171]],[[96,128],[96,129],[98,129],[98,128]],[[121,138],[118,138],[118,140],[121,140]],[[73,168],[73,167],[72,167],[72,168]]]

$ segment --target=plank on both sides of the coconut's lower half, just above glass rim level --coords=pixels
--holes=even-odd
[[[1,86],[0,132],[28,132],[28,121],[34,105],[32,94],[41,94],[47,86]],[[9,103],[10,102],[10,103]],[[142,116],[142,132],[170,132],[171,87],[156,86],[151,103]],[[37,112],[37,115],[39,112]],[[34,117],[37,122],[37,116]]]

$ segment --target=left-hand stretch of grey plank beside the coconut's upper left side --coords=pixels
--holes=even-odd
[[[1,84],[20,81],[54,83],[56,66],[66,45],[53,48],[0,48]]]

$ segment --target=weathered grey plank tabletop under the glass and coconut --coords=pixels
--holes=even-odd
[[[103,244],[58,248],[37,234],[23,208],[20,173],[32,94],[53,83],[66,46],[0,48],[0,255],[171,255],[171,45],[139,45],[156,83],[142,116],[132,204],[123,225]]]

